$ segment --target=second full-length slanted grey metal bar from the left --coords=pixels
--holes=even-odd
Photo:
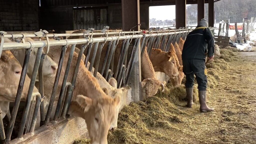
[[[27,119],[27,115],[28,115],[28,109],[29,109],[33,89],[34,89],[35,82],[36,82],[37,71],[38,71],[38,68],[39,68],[39,63],[40,63],[42,51],[43,51],[43,47],[38,48],[38,50],[37,50],[35,65],[34,65],[34,69],[33,69],[33,72],[32,72],[30,85],[29,85],[29,89],[28,89],[28,94],[27,94],[27,99],[26,99],[26,106],[24,108],[21,123],[20,123],[20,127],[19,127],[18,138],[21,138],[22,135],[23,135],[23,132],[24,132],[26,119]]]

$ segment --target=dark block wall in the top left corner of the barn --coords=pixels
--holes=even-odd
[[[38,31],[39,0],[0,0],[0,31]]]

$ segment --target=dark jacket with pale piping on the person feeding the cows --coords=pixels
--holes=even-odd
[[[186,38],[182,59],[205,59],[205,53],[208,57],[214,55],[214,36],[208,27],[197,27]]]

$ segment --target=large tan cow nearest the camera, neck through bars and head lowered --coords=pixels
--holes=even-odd
[[[64,56],[55,104],[60,94],[60,87],[67,66],[70,49],[70,46],[68,46]],[[48,55],[56,63],[59,63],[60,52],[61,46],[50,47]],[[67,81],[72,80],[77,58],[78,54],[74,52]],[[52,77],[44,77],[44,92],[47,97],[51,95],[54,80],[55,79]],[[120,97],[112,98],[105,94],[100,88],[97,79],[91,75],[81,60],[69,114],[85,119],[91,143],[107,143],[108,130],[115,129],[115,127],[111,128],[110,126],[115,119],[117,119],[116,107],[120,105],[120,102]]]

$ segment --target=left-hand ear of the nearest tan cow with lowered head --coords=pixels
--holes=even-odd
[[[77,95],[75,101],[87,112],[92,106],[92,99],[83,95]]]

